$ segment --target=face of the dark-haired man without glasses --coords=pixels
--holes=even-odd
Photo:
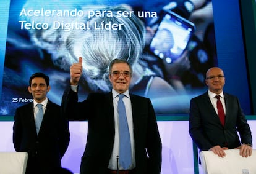
[[[49,92],[49,90],[50,87],[46,85],[45,79],[41,77],[33,78],[31,81],[31,86],[28,87],[28,91],[38,103],[45,100],[46,94]]]

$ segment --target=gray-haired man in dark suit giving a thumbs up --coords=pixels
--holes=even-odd
[[[62,97],[62,110],[69,120],[88,121],[87,144],[80,173],[160,173],[162,147],[155,112],[148,98],[129,93],[132,68],[126,59],[114,59],[109,65],[111,92],[90,94],[87,100],[78,102],[77,85],[81,74],[80,57],[79,63],[70,67],[70,86]],[[117,111],[119,94],[124,94],[131,142],[131,162],[127,168],[122,166],[121,151],[119,153],[119,140],[122,138],[119,137]]]

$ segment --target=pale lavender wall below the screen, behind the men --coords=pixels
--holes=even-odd
[[[249,121],[256,144],[256,121]],[[0,122],[0,151],[14,151],[12,144],[13,122]],[[79,173],[80,159],[85,148],[87,122],[70,122],[70,144],[62,159],[62,167]],[[158,121],[163,143],[161,174],[194,174],[192,140],[188,121]],[[199,168],[201,171],[201,168]],[[201,172],[200,172],[201,173]]]

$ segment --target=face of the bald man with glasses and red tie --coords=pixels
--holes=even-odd
[[[211,68],[207,71],[205,84],[207,84],[211,92],[216,94],[221,93],[225,84],[223,71],[220,68]]]

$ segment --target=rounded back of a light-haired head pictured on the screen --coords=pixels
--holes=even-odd
[[[129,65],[134,66],[142,55],[145,45],[145,26],[134,14],[129,17],[119,17],[117,12],[125,11],[122,6],[106,7],[101,10],[110,10],[112,17],[90,18],[90,30],[75,30],[67,38],[67,47],[77,62],[77,57],[83,57],[83,73],[91,80],[103,80],[109,84],[109,63],[114,59],[126,59]],[[79,19],[85,22],[88,17]],[[121,24],[120,30],[96,30],[101,22]],[[109,89],[106,89],[109,90]]]

